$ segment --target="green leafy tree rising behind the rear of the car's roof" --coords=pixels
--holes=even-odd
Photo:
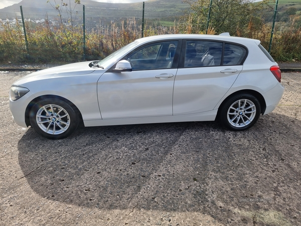
[[[210,0],[186,0],[192,12],[186,15],[186,20],[191,23],[192,33],[206,31]],[[220,34],[229,32],[231,35],[242,36],[247,32],[250,21],[254,20],[255,12],[266,4],[252,4],[248,0],[213,0],[210,14],[209,27],[212,33]],[[259,20],[260,21],[260,20]]]

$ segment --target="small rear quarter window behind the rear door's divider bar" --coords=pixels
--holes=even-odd
[[[246,53],[246,49],[242,46],[226,43],[223,65],[240,65]]]

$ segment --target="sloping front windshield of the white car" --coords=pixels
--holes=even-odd
[[[118,49],[116,52],[113,52],[111,55],[107,56],[103,60],[97,62],[99,66],[104,68],[108,68],[112,65],[112,63],[116,63],[119,59],[121,59],[130,49],[134,46],[138,45],[139,43],[134,41],[126,46],[123,46],[121,49]]]

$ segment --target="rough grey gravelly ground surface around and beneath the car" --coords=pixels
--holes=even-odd
[[[80,128],[52,141],[17,126],[0,72],[1,225],[301,225],[301,73],[244,132],[215,122]]]

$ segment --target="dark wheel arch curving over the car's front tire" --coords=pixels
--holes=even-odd
[[[34,98],[32,101],[30,101],[30,103],[26,107],[26,110],[25,110],[25,123],[26,123],[27,127],[31,126],[29,118],[30,118],[30,111],[31,111],[32,107],[34,106],[34,104],[36,102],[38,102],[42,99],[45,99],[45,98],[57,98],[57,99],[60,99],[60,100],[63,100],[65,102],[67,102],[76,111],[76,114],[78,114],[80,121],[83,122],[83,117],[81,115],[81,112],[79,111],[77,106],[74,103],[72,103],[70,100],[68,100],[68,99],[66,99],[62,96],[58,96],[58,95],[42,95],[42,96],[38,96],[38,97]]]

